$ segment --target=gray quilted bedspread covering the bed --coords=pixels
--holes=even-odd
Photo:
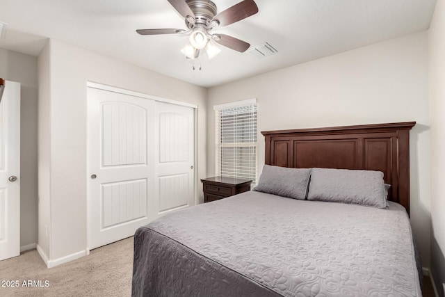
[[[247,192],[135,234],[133,296],[421,296],[410,221]]]

